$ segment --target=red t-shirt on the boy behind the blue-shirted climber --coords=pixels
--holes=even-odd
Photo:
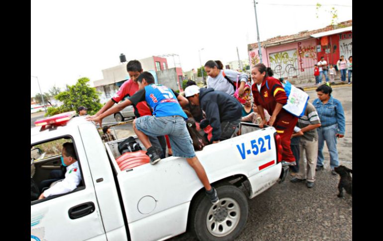
[[[125,97],[133,96],[138,91],[138,83],[133,80],[126,80],[118,89],[117,93],[112,97],[115,103],[120,102]],[[140,116],[152,115],[152,110],[146,101],[141,101],[137,105],[133,104],[134,114],[138,118]]]

